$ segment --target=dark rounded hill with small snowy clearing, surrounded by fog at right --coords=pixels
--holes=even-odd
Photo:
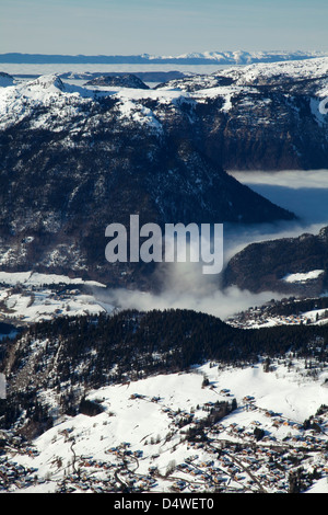
[[[237,253],[224,271],[224,286],[254,293],[318,296],[328,287],[328,227],[302,234],[253,243]]]

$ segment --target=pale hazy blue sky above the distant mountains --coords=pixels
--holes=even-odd
[[[327,0],[0,0],[0,53],[328,50]]]

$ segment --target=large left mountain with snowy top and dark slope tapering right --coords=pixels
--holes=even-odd
[[[106,262],[108,224],[293,217],[223,171],[220,94],[93,92],[50,76],[3,88],[0,100],[2,270],[142,286],[152,265]]]

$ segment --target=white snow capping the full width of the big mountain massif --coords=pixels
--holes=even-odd
[[[91,103],[96,96],[114,95],[119,99],[119,110],[122,116],[132,117],[134,121],[148,125],[151,129],[161,131],[161,122],[142,102],[145,99],[155,100],[159,103],[177,105],[178,102],[188,99],[194,102],[203,102],[208,98],[222,96],[224,100],[223,112],[232,107],[232,99],[235,94],[247,91],[255,92],[256,84],[262,81],[280,82],[286,79],[325,79],[328,73],[328,57],[311,58],[304,60],[290,60],[283,62],[254,64],[245,67],[235,66],[207,76],[195,76],[189,81],[195,82],[201,89],[195,93],[181,91],[184,82],[178,81],[179,87],[164,85],[157,90],[142,90],[120,87],[93,88],[79,87],[61,81],[58,73],[42,76],[32,81],[21,81],[7,88],[0,88],[0,127],[5,128],[19,123],[28,116],[35,108],[46,106],[47,112],[34,119],[32,127],[47,126],[51,130],[59,130],[60,124],[71,121],[79,115],[81,105]],[[218,76],[231,78],[233,85],[218,88]],[[325,124],[326,118],[318,111],[319,99],[327,95],[324,82],[318,85],[318,99],[312,100],[312,110],[319,124]],[[266,119],[266,118],[263,118]]]

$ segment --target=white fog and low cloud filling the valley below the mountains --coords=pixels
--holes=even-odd
[[[277,238],[294,238],[304,232],[318,233],[328,226],[328,171],[243,172],[236,179],[271,202],[296,214],[296,221],[224,226],[224,261],[247,244]],[[272,291],[251,294],[237,287],[222,289],[220,275],[204,275],[201,263],[163,263],[157,268],[163,285],[161,295],[113,289],[106,302],[120,309],[192,309],[221,319],[260,306],[282,295]]]

